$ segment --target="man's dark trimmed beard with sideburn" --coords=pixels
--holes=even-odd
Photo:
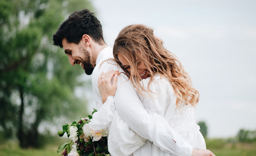
[[[93,73],[95,65],[93,66],[93,64],[91,63],[90,54],[87,50],[82,48],[80,48],[80,51],[82,51],[84,58],[86,58],[86,60],[82,59],[82,63],[84,64],[84,72],[86,75],[91,75]]]

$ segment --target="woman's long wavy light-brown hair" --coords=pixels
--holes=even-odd
[[[141,77],[137,69],[137,63],[145,64],[149,73],[150,83],[154,75],[159,74],[168,78],[174,93],[177,96],[176,105],[185,104],[196,106],[199,101],[199,92],[194,89],[190,76],[181,66],[180,60],[163,47],[163,41],[154,36],[153,30],[146,25],[128,25],[124,27],[115,39],[113,48],[115,62],[124,70],[134,87],[140,91],[146,91],[141,85]],[[131,72],[128,72],[118,59],[118,55],[130,63]],[[147,92],[147,91],[146,91]]]

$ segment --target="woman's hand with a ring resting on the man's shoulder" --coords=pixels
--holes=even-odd
[[[102,72],[102,74],[98,78],[98,88],[100,90],[100,94],[102,97],[102,103],[106,102],[108,96],[114,96],[116,91],[117,84],[117,76],[119,75],[119,71],[109,71]],[[113,78],[113,84],[111,80]]]

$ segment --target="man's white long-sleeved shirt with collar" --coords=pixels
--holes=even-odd
[[[112,48],[106,47],[97,57],[96,67],[93,70],[93,93],[97,104],[97,109],[102,107],[102,99],[98,89],[98,77],[102,72],[122,69],[117,65],[108,62],[102,63],[106,59],[113,58]],[[101,65],[102,63],[102,65]],[[101,65],[101,67],[100,67]],[[148,139],[162,151],[179,156],[191,156],[193,147],[172,128],[163,116],[150,110],[146,110],[141,103],[137,92],[133,88],[127,77],[119,76],[117,90],[114,97],[115,109],[124,119],[128,126],[140,135]],[[173,141],[175,140],[176,143]]]

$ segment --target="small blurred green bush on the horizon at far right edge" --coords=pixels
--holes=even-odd
[[[256,131],[241,129],[238,131],[237,138],[239,142],[256,142]]]

